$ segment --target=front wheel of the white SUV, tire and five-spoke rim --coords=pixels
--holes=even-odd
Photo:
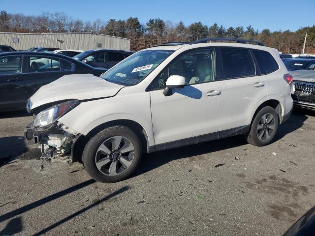
[[[83,165],[96,181],[118,182],[137,169],[142,155],[137,135],[126,126],[112,126],[98,132],[87,143]]]

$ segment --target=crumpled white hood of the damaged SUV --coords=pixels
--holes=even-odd
[[[112,97],[124,87],[92,74],[64,75],[60,79],[38,89],[30,98],[30,109],[69,99],[86,100]]]

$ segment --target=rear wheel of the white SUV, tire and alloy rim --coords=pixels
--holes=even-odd
[[[252,121],[247,142],[255,146],[265,146],[272,142],[279,126],[279,116],[275,109],[266,106],[260,109]]]

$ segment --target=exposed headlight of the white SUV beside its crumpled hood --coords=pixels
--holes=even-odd
[[[34,120],[34,126],[44,127],[52,124],[78,104],[78,100],[70,100],[48,108],[37,114]]]

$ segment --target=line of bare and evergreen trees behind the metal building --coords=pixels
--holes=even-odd
[[[43,13],[39,16],[26,16],[0,11],[1,32],[93,32],[130,39],[130,49],[140,50],[162,42],[194,41],[206,37],[254,39],[266,46],[277,48],[286,54],[301,54],[304,35],[308,33],[305,53],[315,54],[315,25],[296,31],[263,29],[258,31],[247,27],[229,27],[213,24],[210,27],[199,22],[185,26],[182,21],[173,23],[162,19],[149,19],[145,24],[137,17],[126,20],[110,19],[105,22],[72,19],[63,12]]]

